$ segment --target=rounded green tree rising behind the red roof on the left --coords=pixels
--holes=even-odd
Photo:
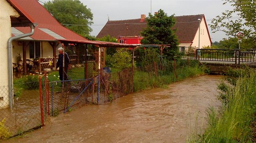
[[[68,29],[86,36],[92,32],[93,14],[91,9],[79,0],[52,0],[44,4],[48,11]]]

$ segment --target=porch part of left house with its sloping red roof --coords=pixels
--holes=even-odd
[[[87,40],[62,26],[37,0],[11,1],[14,2],[15,6],[22,8],[38,23],[32,36],[12,42],[13,63],[22,65],[22,72],[24,74],[27,74],[28,60],[33,61],[37,66],[47,65],[51,62],[54,67],[56,55],[59,54],[57,49],[63,46],[59,40]],[[12,36],[17,36],[29,32],[30,28],[11,27],[11,31]],[[38,60],[39,58],[40,60]],[[41,70],[42,68],[40,67],[39,69]]]

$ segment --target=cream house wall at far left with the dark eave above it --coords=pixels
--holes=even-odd
[[[9,63],[12,61],[8,61],[8,50],[7,50],[7,42],[11,38],[11,26],[25,26],[28,23],[32,23],[32,19],[28,19],[26,15],[17,10],[17,8],[13,7],[9,0],[1,0],[0,1],[0,109],[7,108],[9,103],[13,101],[13,99],[9,98],[10,87],[9,87]],[[10,58],[11,59],[11,58]],[[12,73],[11,73],[12,74]],[[12,81],[12,76],[11,79]],[[12,92],[12,91],[11,91]],[[10,99],[10,100],[9,100]]]

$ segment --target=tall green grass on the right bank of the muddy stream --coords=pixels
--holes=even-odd
[[[252,69],[247,71],[247,76],[240,76],[236,79],[234,85],[223,86],[221,83],[221,87],[225,87],[220,98],[223,103],[222,110],[216,112],[210,108],[208,110],[208,126],[204,134],[193,136],[189,142],[253,142],[252,122],[255,121],[256,115],[255,84],[256,72]]]

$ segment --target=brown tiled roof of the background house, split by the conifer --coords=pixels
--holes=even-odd
[[[199,27],[199,21],[197,19],[201,19],[201,21],[204,19],[205,21],[203,14],[176,16],[174,18],[176,19],[176,24],[173,29],[177,29],[176,36],[179,42],[192,42]],[[128,23],[128,25],[125,23]],[[119,38],[119,36],[140,36],[141,31],[146,26],[147,21],[141,21],[141,19],[108,21],[97,38],[102,38],[107,35],[114,38]],[[127,27],[128,30],[126,30]],[[208,36],[210,38],[209,32]]]

